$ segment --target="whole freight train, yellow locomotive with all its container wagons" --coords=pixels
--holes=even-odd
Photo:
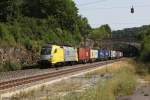
[[[123,57],[123,53],[107,49],[46,44],[42,47],[40,56],[38,63],[41,65],[63,65],[117,59]]]

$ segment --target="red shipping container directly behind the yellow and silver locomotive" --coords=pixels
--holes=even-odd
[[[90,60],[90,48],[78,48],[79,61]]]

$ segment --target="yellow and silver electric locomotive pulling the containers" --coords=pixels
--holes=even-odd
[[[47,44],[42,47],[41,65],[60,65],[78,61],[77,48]]]

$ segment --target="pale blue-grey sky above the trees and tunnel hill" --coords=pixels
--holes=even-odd
[[[79,14],[93,28],[109,24],[112,30],[150,24],[150,0],[74,0]],[[134,6],[135,13],[130,13]]]

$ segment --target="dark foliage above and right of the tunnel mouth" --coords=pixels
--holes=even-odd
[[[139,59],[144,62],[150,61],[150,25],[118,30],[112,34],[113,37],[131,37],[139,40],[142,43]]]

